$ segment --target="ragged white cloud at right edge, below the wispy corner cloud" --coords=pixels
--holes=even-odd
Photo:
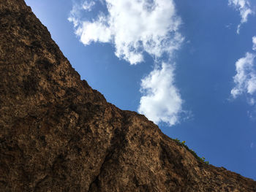
[[[236,76],[233,77],[236,86],[231,90],[233,98],[247,93],[253,96],[256,92],[256,71],[255,71],[255,54],[246,53],[244,58],[236,61]],[[253,98],[249,99],[249,103],[255,103]]]

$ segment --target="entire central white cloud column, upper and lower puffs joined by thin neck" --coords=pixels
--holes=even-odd
[[[82,20],[72,11],[69,21],[74,23],[75,34],[84,45],[113,44],[116,56],[129,64],[143,62],[144,53],[151,55],[154,70],[141,80],[143,96],[138,111],[155,123],[174,125],[182,100],[174,85],[173,64],[162,64],[163,55],[165,61],[170,61],[184,41],[173,0],[105,0],[105,5],[108,14],[101,12],[92,21]]]

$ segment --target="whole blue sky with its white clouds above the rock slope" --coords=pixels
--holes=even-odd
[[[256,180],[256,1],[26,3],[109,102]]]

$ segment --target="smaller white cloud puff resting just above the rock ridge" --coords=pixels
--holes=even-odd
[[[163,63],[141,80],[138,112],[154,123],[165,122],[170,126],[178,123],[182,100],[174,85],[173,65]]]

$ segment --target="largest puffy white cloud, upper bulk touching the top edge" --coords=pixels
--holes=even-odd
[[[87,1],[86,1],[87,2]],[[110,42],[116,56],[130,64],[143,61],[143,52],[154,58],[171,54],[183,41],[178,33],[181,19],[176,15],[173,0],[105,0],[108,15],[100,14],[93,21],[80,20],[71,12],[76,34],[84,45]],[[83,4],[84,5],[84,4]],[[88,7],[94,5],[94,1]]]

